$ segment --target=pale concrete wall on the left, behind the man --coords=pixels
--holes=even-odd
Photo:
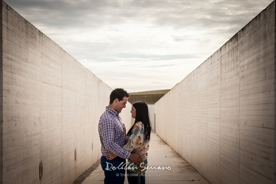
[[[0,10],[0,182],[71,184],[101,156],[112,89],[3,1]],[[120,114],[127,129],[130,108]]]

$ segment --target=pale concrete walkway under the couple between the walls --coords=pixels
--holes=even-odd
[[[146,174],[160,174],[160,176],[146,176],[147,184],[209,184],[193,167],[168,146],[156,133],[151,132],[150,147],[148,150],[148,167],[165,166],[171,170],[148,169]],[[156,175],[158,175],[156,174]],[[103,184],[104,171],[99,165],[82,184]],[[128,184],[125,177],[125,184]]]

